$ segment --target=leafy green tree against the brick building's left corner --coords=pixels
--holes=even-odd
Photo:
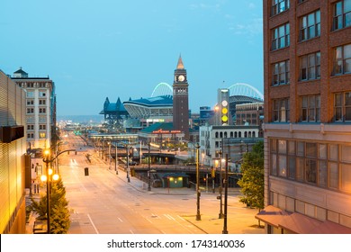
[[[265,207],[265,167],[264,143],[257,142],[251,152],[245,153],[241,166],[242,177],[238,180],[241,187],[239,202],[261,211]]]

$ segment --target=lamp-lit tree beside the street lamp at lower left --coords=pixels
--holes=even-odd
[[[61,179],[52,182],[50,186],[50,233],[66,234],[70,226],[70,214],[66,199],[66,188]],[[31,211],[36,212],[38,219],[47,218],[47,196],[44,194],[40,201],[31,199]]]

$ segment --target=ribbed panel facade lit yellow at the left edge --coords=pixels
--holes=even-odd
[[[0,70],[0,233],[25,233],[25,92]]]

